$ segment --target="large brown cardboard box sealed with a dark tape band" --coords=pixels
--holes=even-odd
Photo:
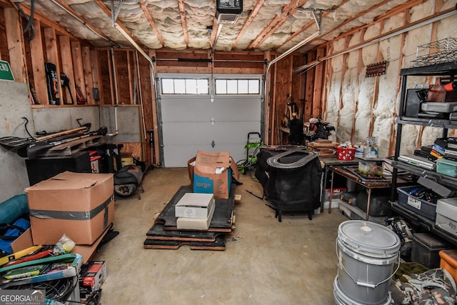
[[[65,171],[26,189],[34,244],[56,244],[63,234],[92,244],[114,219],[113,174]]]

